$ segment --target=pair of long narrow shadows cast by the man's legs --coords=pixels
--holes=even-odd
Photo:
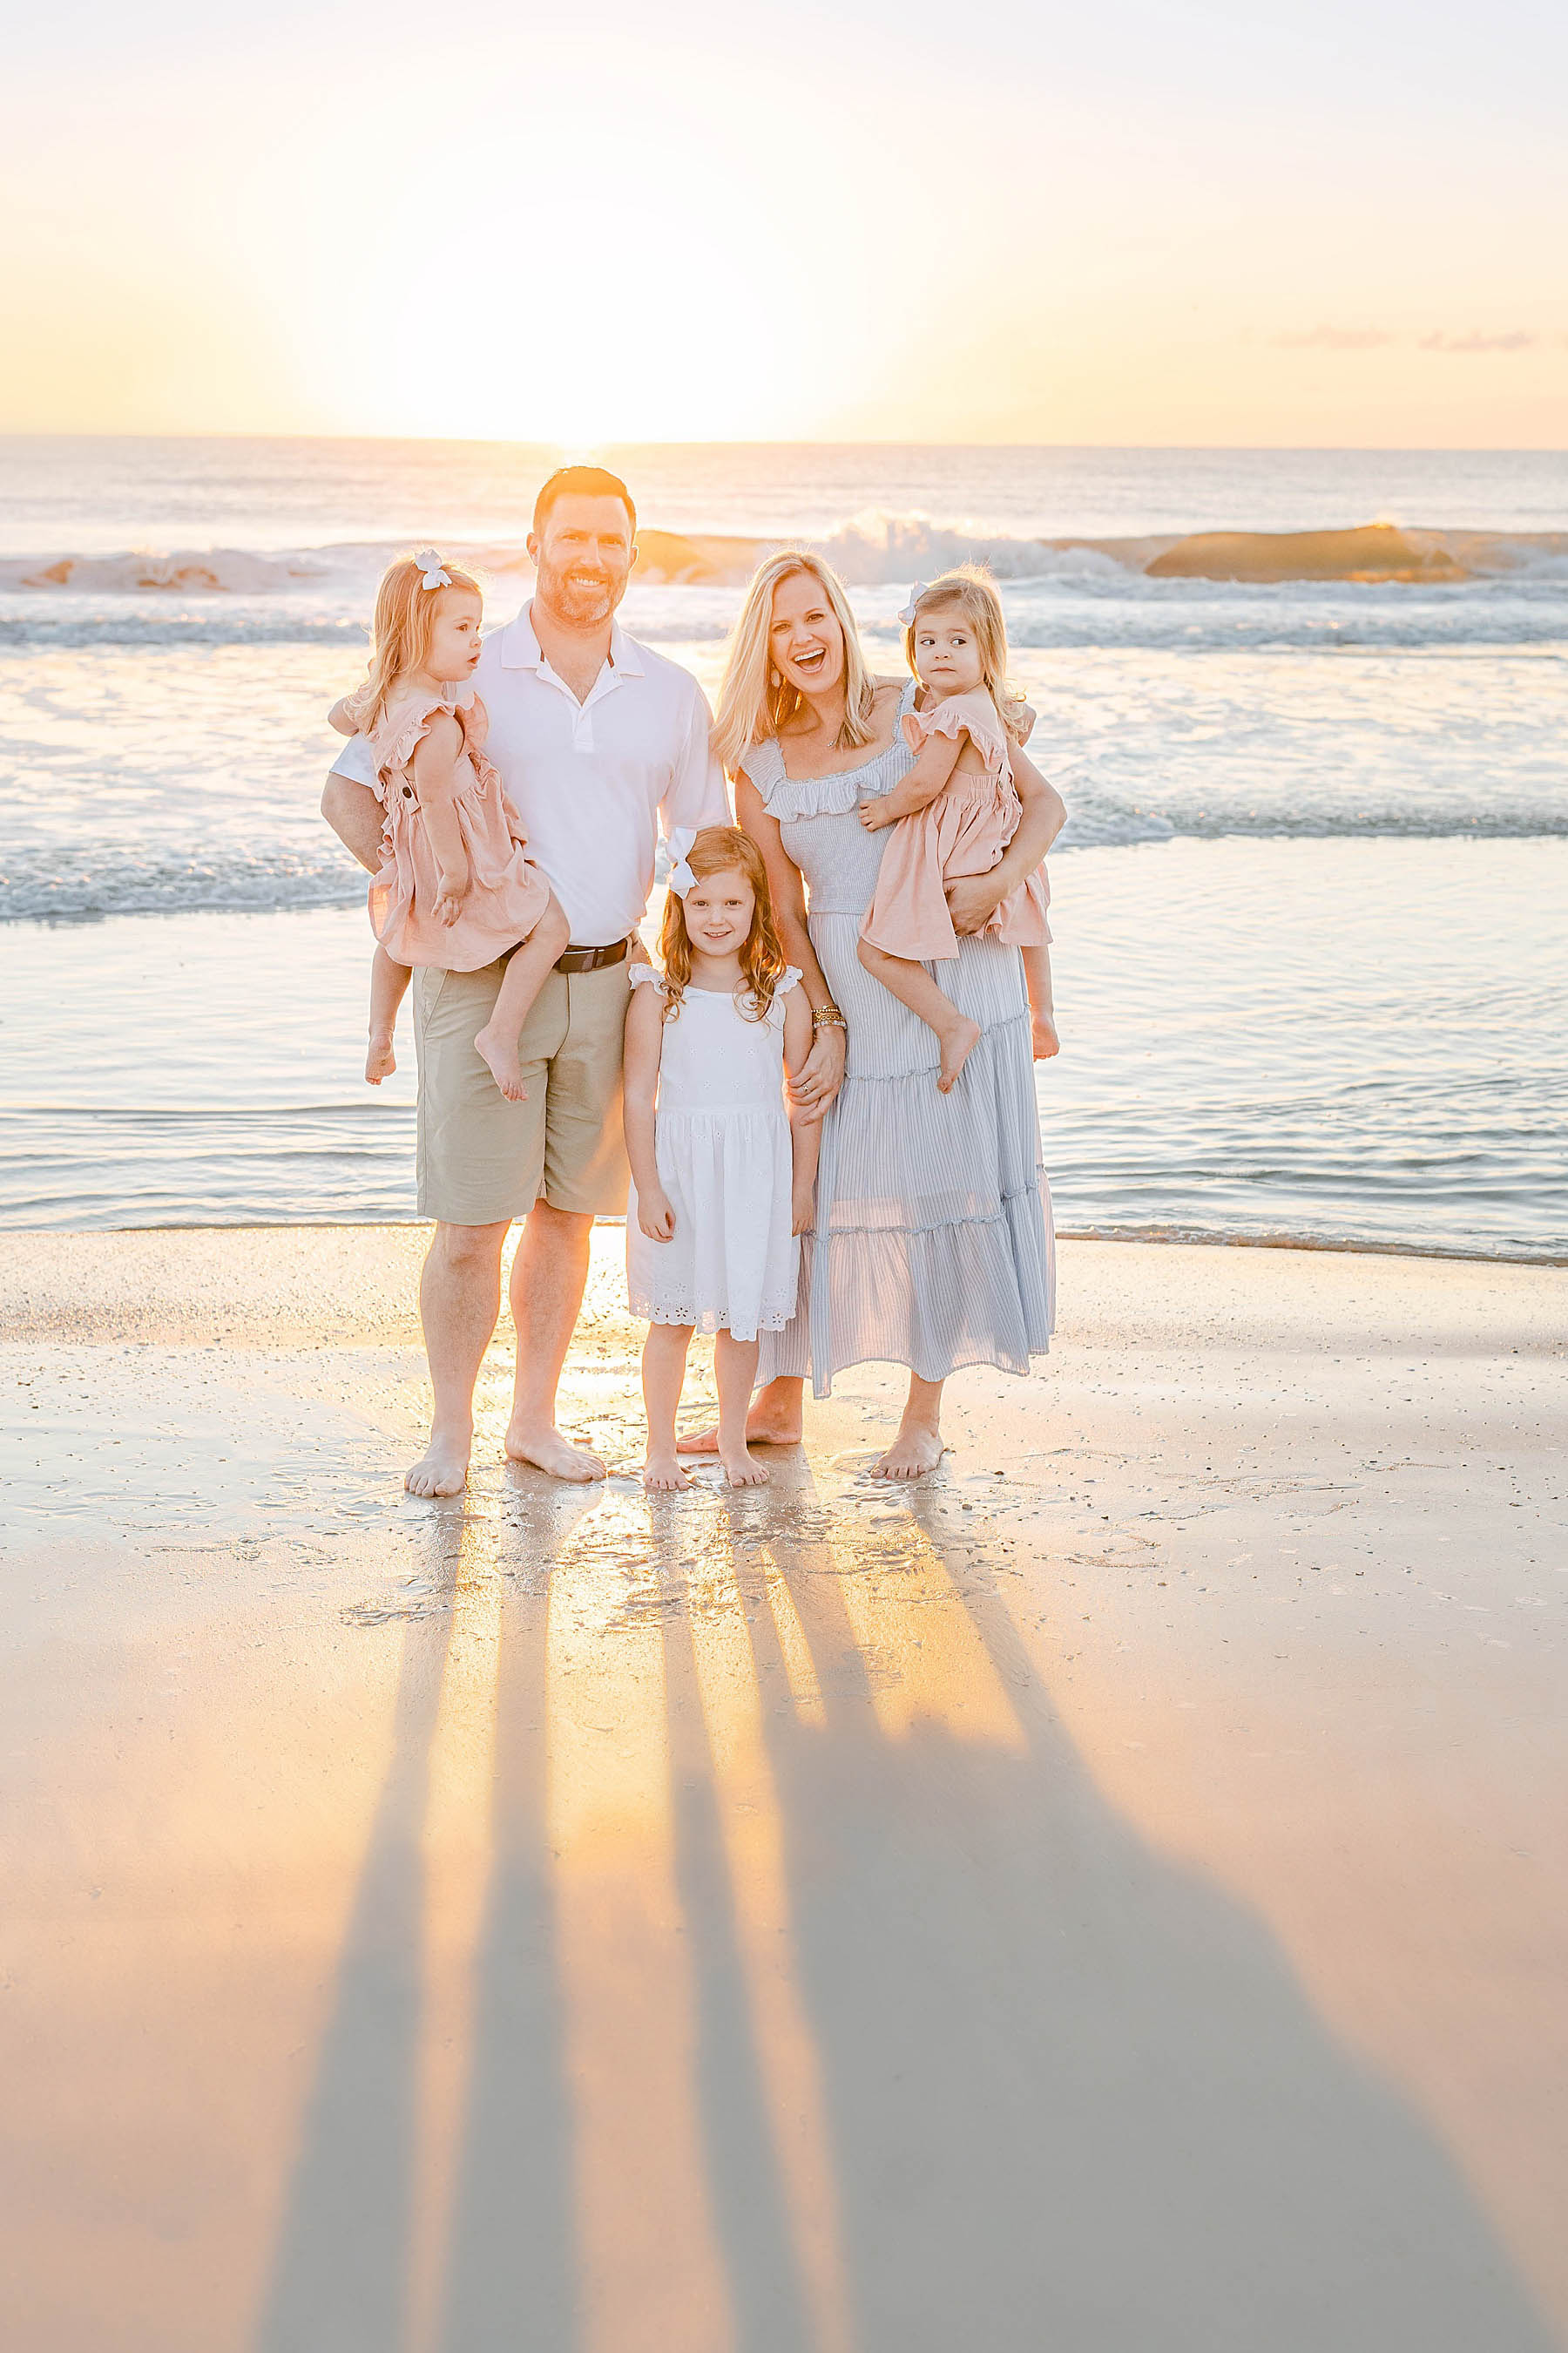
[[[536,1574],[501,1605],[491,1875],[475,1953],[475,2064],[456,2167],[440,2344],[496,2353],[576,2344],[571,2120],[562,2082],[545,1868],[548,1574],[592,1499],[534,1513]],[[421,2186],[423,1828],[454,1617],[409,1626],[393,1758],[339,1960],[256,2353],[409,2346],[409,2238]],[[522,2334],[520,2334],[522,2332]]]

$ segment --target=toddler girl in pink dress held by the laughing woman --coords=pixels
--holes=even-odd
[[[936,1031],[943,1049],[936,1082],[947,1094],[980,1026],[924,967],[959,953],[943,885],[990,873],[1018,831],[1023,807],[1013,788],[1009,727],[1023,706],[1006,685],[1001,598],[983,572],[964,567],[931,586],[919,581],[900,619],[905,654],[922,687],[903,722],[917,758],[891,793],[860,802],[860,824],[872,833],[896,828],[860,925],[860,962]],[[985,932],[1023,948],[1037,1061],[1058,1052],[1048,904],[1046,868],[1037,866],[985,925]]]

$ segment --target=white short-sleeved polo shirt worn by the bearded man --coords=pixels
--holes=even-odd
[[[578,704],[538,649],[531,607],[484,640],[475,671],[489,711],[489,758],[517,802],[578,948],[607,948],[642,920],[654,889],[658,826],[726,826],[729,793],[708,732],[712,713],[691,671],[609,633],[609,661]],[[369,746],[353,736],[336,774],[369,784]]]

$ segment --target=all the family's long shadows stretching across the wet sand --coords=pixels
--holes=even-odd
[[[529,1574],[503,1602],[440,2353],[583,2341],[569,1988],[545,1842],[548,1581],[574,1518],[541,1506]],[[689,1551],[698,1522],[682,1525]],[[785,1871],[783,1969],[816,2054],[856,2353],[1549,2353],[1427,2125],[1326,2033],[1260,1922],[1100,1798],[1006,1609],[938,1515],[914,1506],[922,1593],[856,1565],[830,1532],[809,1480],[780,1478],[717,1513],[705,1567],[745,1605]],[[820,1706],[799,1706],[802,1659],[785,1657],[769,1579],[804,1631]],[[929,1645],[924,1718],[879,1713],[889,1642],[872,1657],[865,1595],[893,1649],[907,1640],[914,1659]],[[668,2353],[820,2353],[693,1607],[672,1584],[672,1871],[731,2334]],[[938,1612],[957,1649],[936,1640]],[[411,2344],[407,2238],[444,1642],[444,1624],[409,1635],[261,2353],[425,2353]],[[983,1711],[947,1706],[933,1659],[959,1652],[1006,1694],[1006,1737],[997,1711],[987,1734]]]

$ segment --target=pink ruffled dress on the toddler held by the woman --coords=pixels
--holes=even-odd
[[[926,809],[914,809],[889,828],[877,889],[860,925],[860,939],[870,939],[872,948],[929,965],[959,953],[943,882],[987,875],[1018,833],[1023,805],[1013,788],[1006,729],[985,689],[950,694],[929,711],[907,711],[903,732],[917,758],[931,736],[957,741],[969,734],[985,760],[983,776],[954,769]],[[1044,948],[1051,941],[1048,906],[1046,868],[1037,866],[1006,894],[980,936],[1001,939],[1009,948]]]

